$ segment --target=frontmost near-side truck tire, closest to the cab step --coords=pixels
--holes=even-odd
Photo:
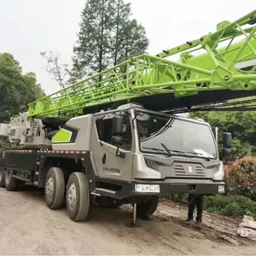
[[[73,221],[83,221],[89,212],[90,187],[84,172],[73,172],[68,178],[66,205]]]

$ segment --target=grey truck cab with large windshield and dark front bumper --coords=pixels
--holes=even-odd
[[[89,152],[85,173],[90,173],[93,195],[126,200],[224,193],[224,167],[211,126],[204,121],[125,104],[70,119],[66,125],[70,131],[77,129],[77,138],[55,142],[53,148]]]

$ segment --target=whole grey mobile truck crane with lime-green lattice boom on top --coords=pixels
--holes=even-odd
[[[32,102],[28,113],[0,125],[0,136],[15,145],[1,151],[0,186],[44,188],[47,206],[66,202],[73,221],[87,218],[90,203],[131,203],[133,224],[137,214],[154,213],[160,195],[224,193],[210,125],[164,112],[255,95],[255,23],[256,10]],[[225,133],[224,153],[230,148]]]

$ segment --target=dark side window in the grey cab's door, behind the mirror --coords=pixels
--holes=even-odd
[[[96,120],[96,129],[98,137],[101,141],[111,144],[112,125],[113,119]],[[123,145],[121,145],[120,148],[124,148],[125,150],[131,150],[131,142],[131,123],[130,119],[125,115],[123,126]]]

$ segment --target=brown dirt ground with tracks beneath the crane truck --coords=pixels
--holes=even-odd
[[[161,201],[150,221],[129,228],[131,207],[94,207],[74,223],[65,208],[49,210],[44,191],[0,189],[1,255],[255,255],[256,242],[236,235],[236,220],[204,214],[201,228],[185,224],[186,209]]]

